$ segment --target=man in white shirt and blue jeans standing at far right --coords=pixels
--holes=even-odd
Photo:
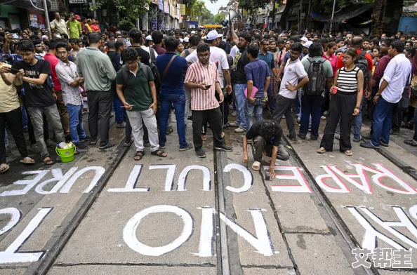
[[[370,142],[362,142],[361,146],[369,149],[379,149],[379,145],[388,147],[390,142],[392,109],[401,100],[404,87],[411,81],[411,63],[404,55],[403,41],[391,43],[388,54],[392,60],[380,79],[379,89],[373,97],[375,111],[373,112],[373,134]]]

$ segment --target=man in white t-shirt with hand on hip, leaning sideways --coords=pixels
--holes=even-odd
[[[281,123],[282,116],[285,115],[286,126],[289,129],[290,140],[296,140],[296,125],[291,115],[291,106],[296,98],[297,90],[303,88],[308,82],[307,72],[300,61],[303,52],[303,45],[299,42],[291,45],[290,60],[284,68],[279,94],[275,98],[274,121]]]

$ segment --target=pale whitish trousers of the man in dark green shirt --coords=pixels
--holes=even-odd
[[[147,126],[151,152],[159,150],[157,118],[153,109],[145,111],[128,111],[129,123],[132,126],[133,140],[135,140],[136,152],[143,151],[143,122]]]

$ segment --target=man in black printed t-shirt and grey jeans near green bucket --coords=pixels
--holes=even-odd
[[[46,115],[51,123],[56,136],[56,142],[65,142],[64,131],[60,121],[60,114],[55,104],[57,96],[46,82],[51,74],[51,66],[46,60],[34,58],[34,44],[32,41],[20,41],[18,44],[19,55],[22,61],[13,63],[12,74],[4,79],[7,85],[12,85],[16,77],[23,82],[25,88],[27,112],[33,124],[37,144],[41,149],[41,159],[46,165],[52,165],[54,161],[49,157],[44,140],[44,118]]]

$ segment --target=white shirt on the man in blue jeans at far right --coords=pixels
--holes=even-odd
[[[387,88],[381,93],[384,100],[397,103],[401,100],[402,92],[406,83],[411,78],[411,63],[404,53],[400,53],[392,58],[385,69],[384,76],[380,80],[379,86],[383,81],[388,82]]]

